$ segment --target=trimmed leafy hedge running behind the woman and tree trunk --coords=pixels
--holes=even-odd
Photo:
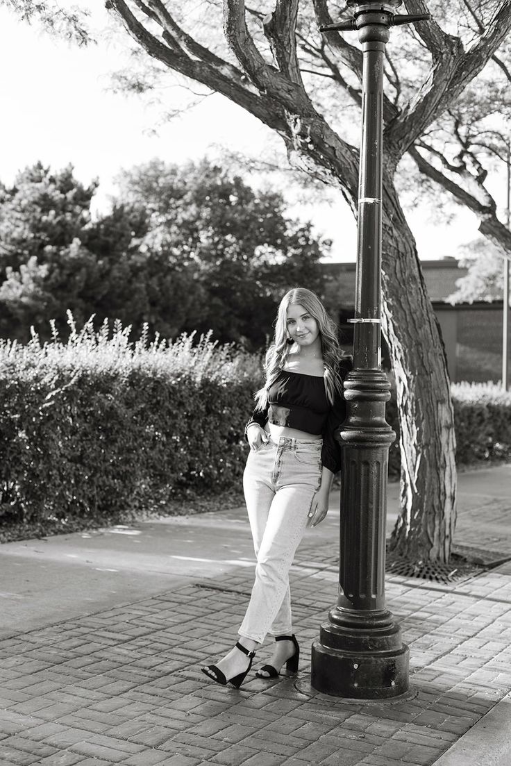
[[[72,318],[70,319],[72,326]],[[105,324],[0,342],[0,521],[101,519],[239,487],[260,358]],[[457,462],[511,455],[511,394],[453,386]],[[388,421],[398,429],[395,397]],[[391,447],[398,474],[399,448]]]

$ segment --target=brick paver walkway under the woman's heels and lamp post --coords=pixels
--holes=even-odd
[[[496,516],[502,525],[504,510]],[[473,524],[472,534],[480,546]],[[461,584],[388,578],[411,691],[344,702],[316,693],[308,675],[336,600],[335,546],[304,546],[293,566],[297,679],[252,676],[237,691],[200,673],[232,644],[247,568],[0,641],[1,766],[433,764],[511,689],[511,564]]]

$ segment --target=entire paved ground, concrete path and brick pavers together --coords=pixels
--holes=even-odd
[[[300,675],[252,675],[240,691],[199,667],[231,646],[250,593],[241,510],[2,545],[0,766],[511,763],[509,562],[460,584],[388,577],[410,646],[405,699],[310,687],[310,645],[336,601],[338,504],[291,573]],[[460,474],[455,542],[507,558],[510,538],[511,466]]]

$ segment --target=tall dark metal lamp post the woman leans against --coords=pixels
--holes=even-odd
[[[363,52],[362,144],[354,369],[344,388],[339,598],[313,643],[319,692],[385,699],[408,690],[408,647],[385,608],[385,517],[390,385],[381,366],[383,66],[389,28],[429,15],[395,15],[401,0],[347,0],[353,18],[321,31],[358,30]]]

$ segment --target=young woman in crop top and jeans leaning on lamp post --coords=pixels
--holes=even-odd
[[[289,570],[306,527],[322,522],[328,510],[341,463],[334,433],[346,417],[342,380],[350,368],[351,357],[339,348],[336,326],[315,293],[303,287],[286,293],[266,355],[266,381],[245,429],[254,588],[235,647],[217,665],[201,668],[224,686],[241,686],[267,633],[275,637],[274,653],[256,675],[275,678],[284,663],[287,671],[298,670]]]

